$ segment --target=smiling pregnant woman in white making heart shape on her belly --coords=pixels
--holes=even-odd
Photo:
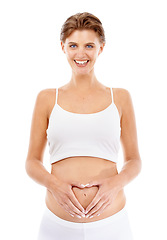
[[[141,158],[130,93],[95,76],[105,46],[96,16],[69,17],[60,39],[71,79],[39,92],[26,159],[27,174],[46,187],[38,240],[132,240],[123,189],[139,174]],[[47,141],[51,173],[43,165]],[[124,166],[118,173],[120,142]]]

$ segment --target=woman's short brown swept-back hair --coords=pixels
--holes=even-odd
[[[84,29],[94,30],[98,34],[100,42],[105,43],[105,33],[101,21],[88,12],[77,13],[67,18],[61,28],[60,40],[65,42],[74,30]]]

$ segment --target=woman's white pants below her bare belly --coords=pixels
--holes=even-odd
[[[132,240],[125,208],[118,213],[94,222],[66,221],[47,207],[39,228],[38,240]]]

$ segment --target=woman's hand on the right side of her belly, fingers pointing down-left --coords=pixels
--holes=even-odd
[[[86,187],[98,186],[99,190],[86,208],[86,217],[99,216],[107,207],[109,207],[116,198],[120,188],[116,177],[105,178],[89,182]]]

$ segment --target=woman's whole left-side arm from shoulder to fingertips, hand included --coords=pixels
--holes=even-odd
[[[46,89],[38,94],[32,118],[30,143],[25,164],[26,172],[34,181],[45,186],[66,212],[82,216],[84,208],[75,197],[71,183],[60,181],[43,166],[50,102],[55,102],[54,89]],[[77,184],[79,183],[75,183],[76,186]]]

